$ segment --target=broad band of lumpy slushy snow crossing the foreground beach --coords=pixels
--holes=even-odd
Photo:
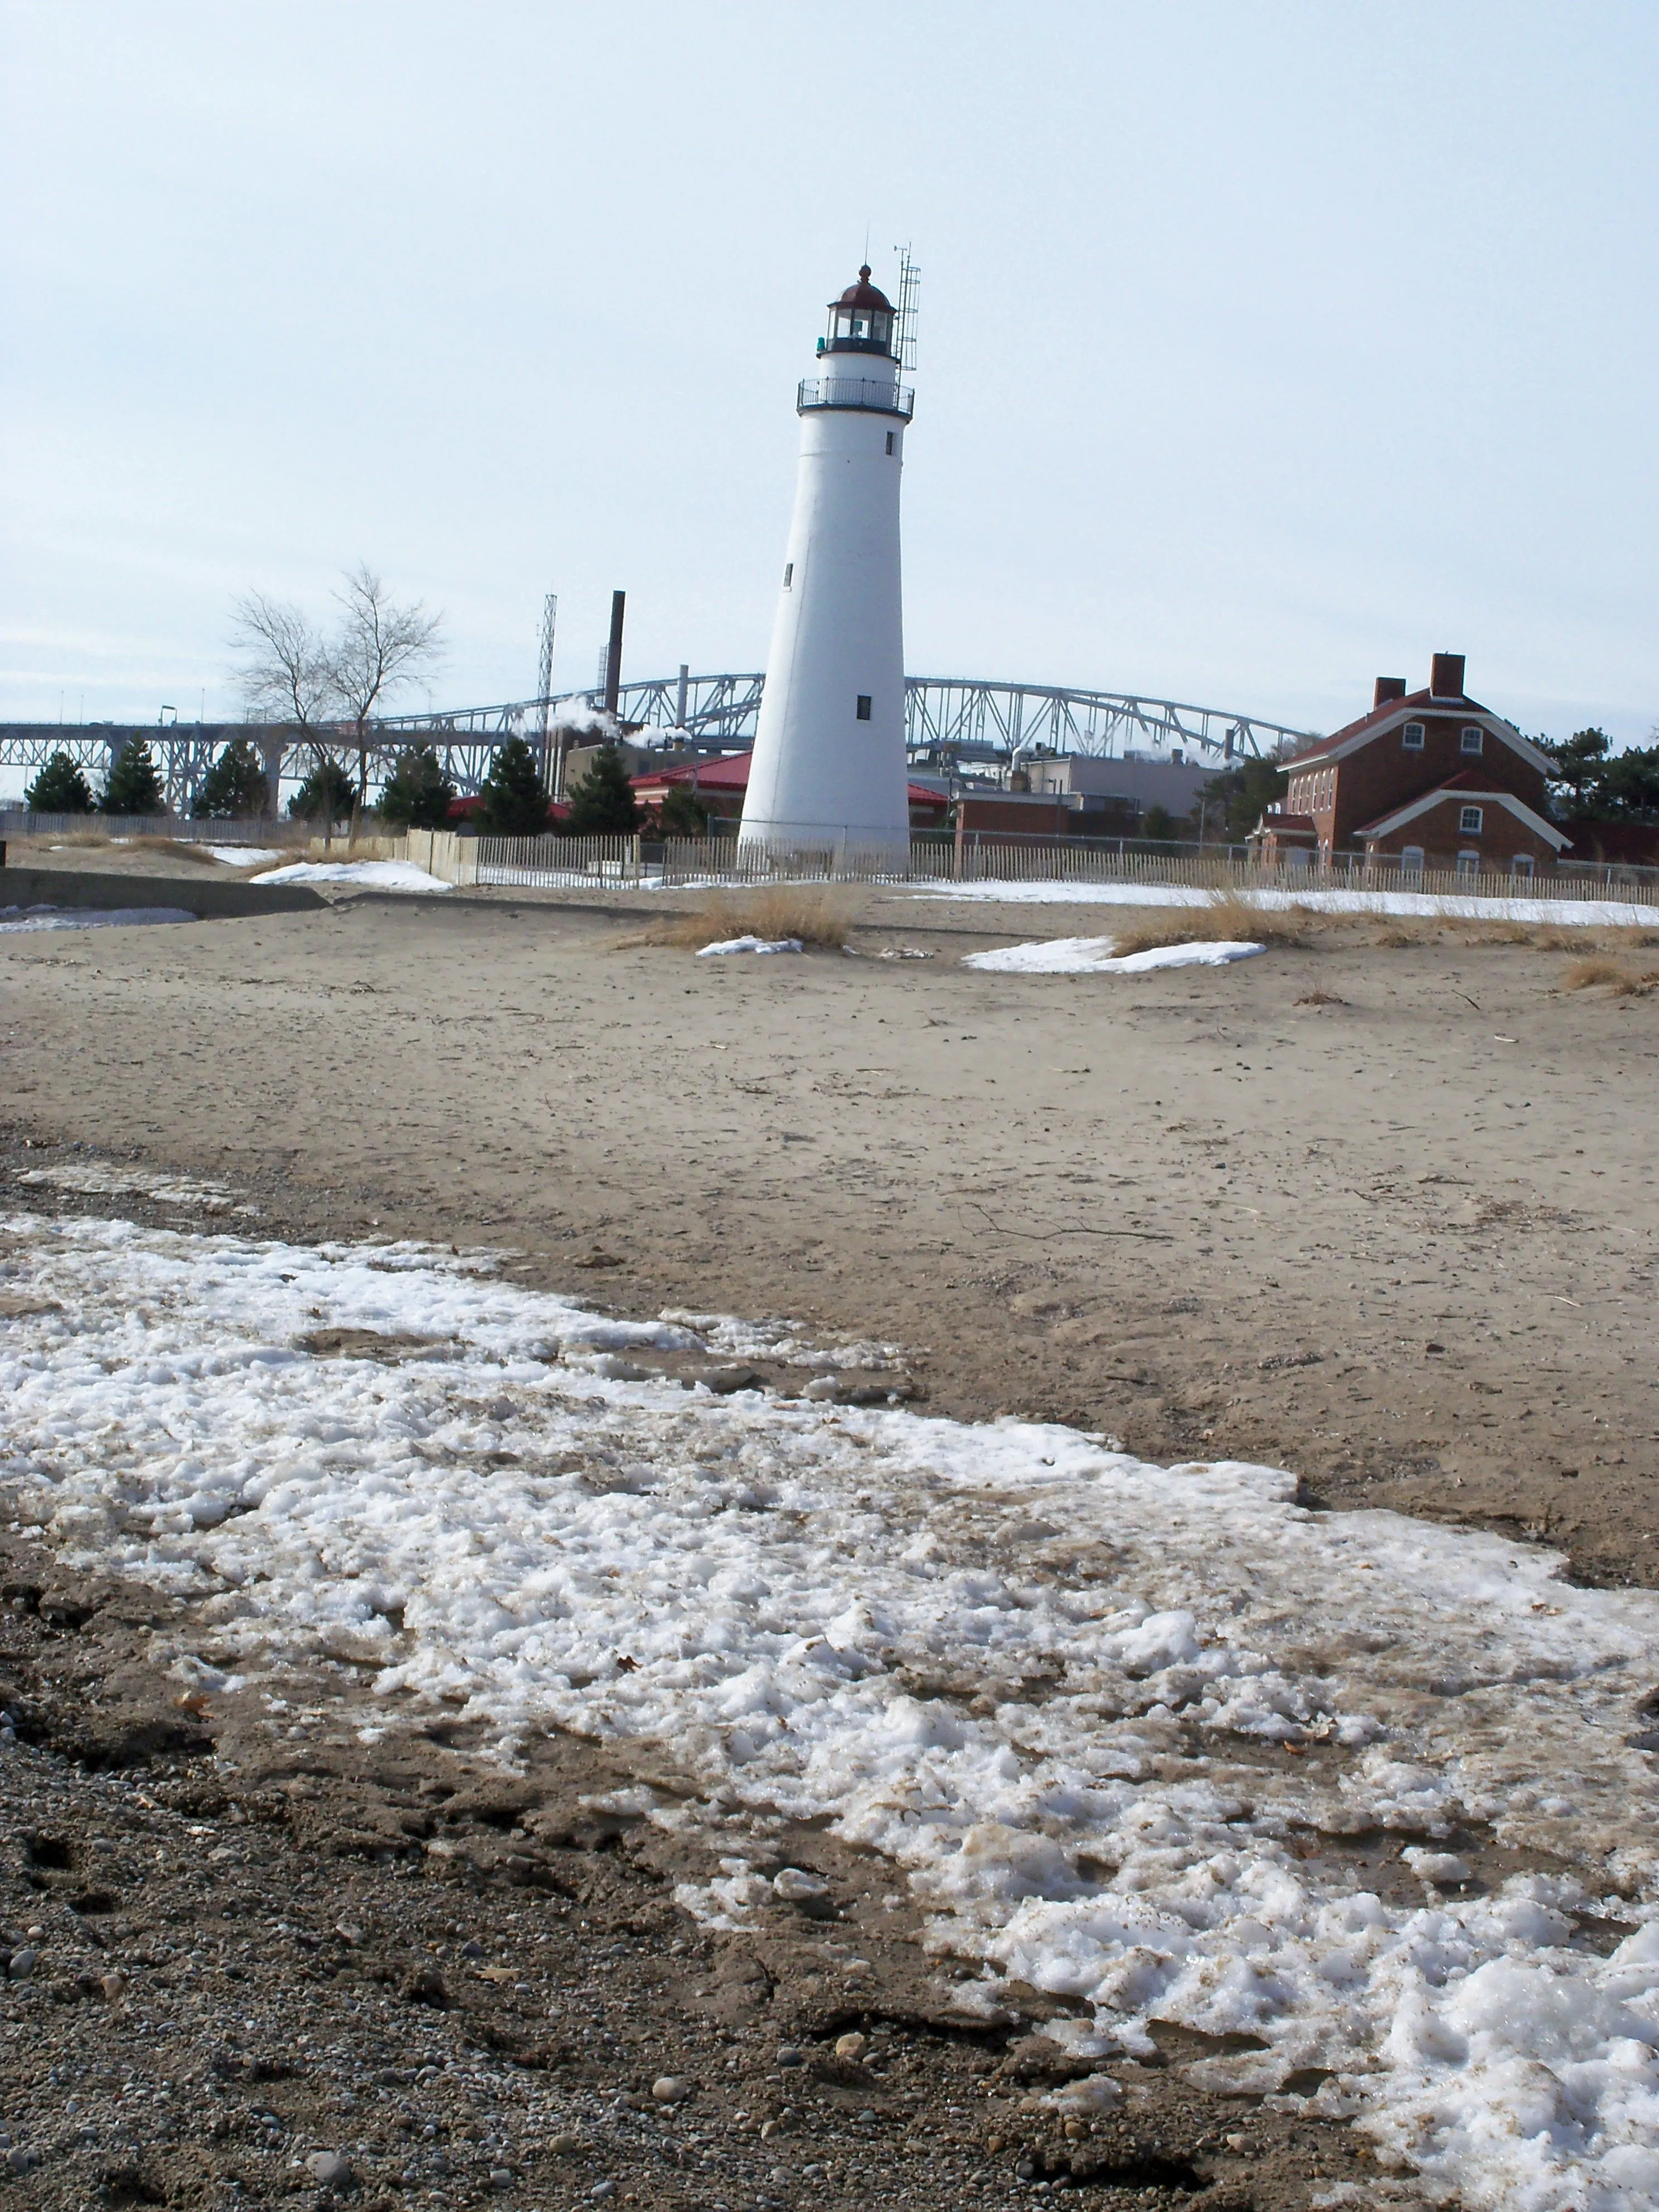
[[[608,1354],[706,1332],[414,1248],[13,1214],[0,1290],[15,1511],[239,1666],[347,1641],[387,1719],[666,1745],[703,1798],[655,1818],[730,1851],[827,1816],[958,2002],[1055,1991],[1106,2062],[1256,2037],[1199,2077],[1321,2068],[1442,2201],[1655,2203],[1659,1599],[1270,1467],[637,1380]],[[319,1318],[403,1349],[314,1358]],[[1394,1887],[1378,1836],[1418,1854]],[[728,1860],[684,1902],[763,1889]]]

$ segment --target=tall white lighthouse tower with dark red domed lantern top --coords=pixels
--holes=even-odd
[[[796,392],[801,469],[743,838],[909,845],[898,476],[916,400],[900,319],[858,270]]]

